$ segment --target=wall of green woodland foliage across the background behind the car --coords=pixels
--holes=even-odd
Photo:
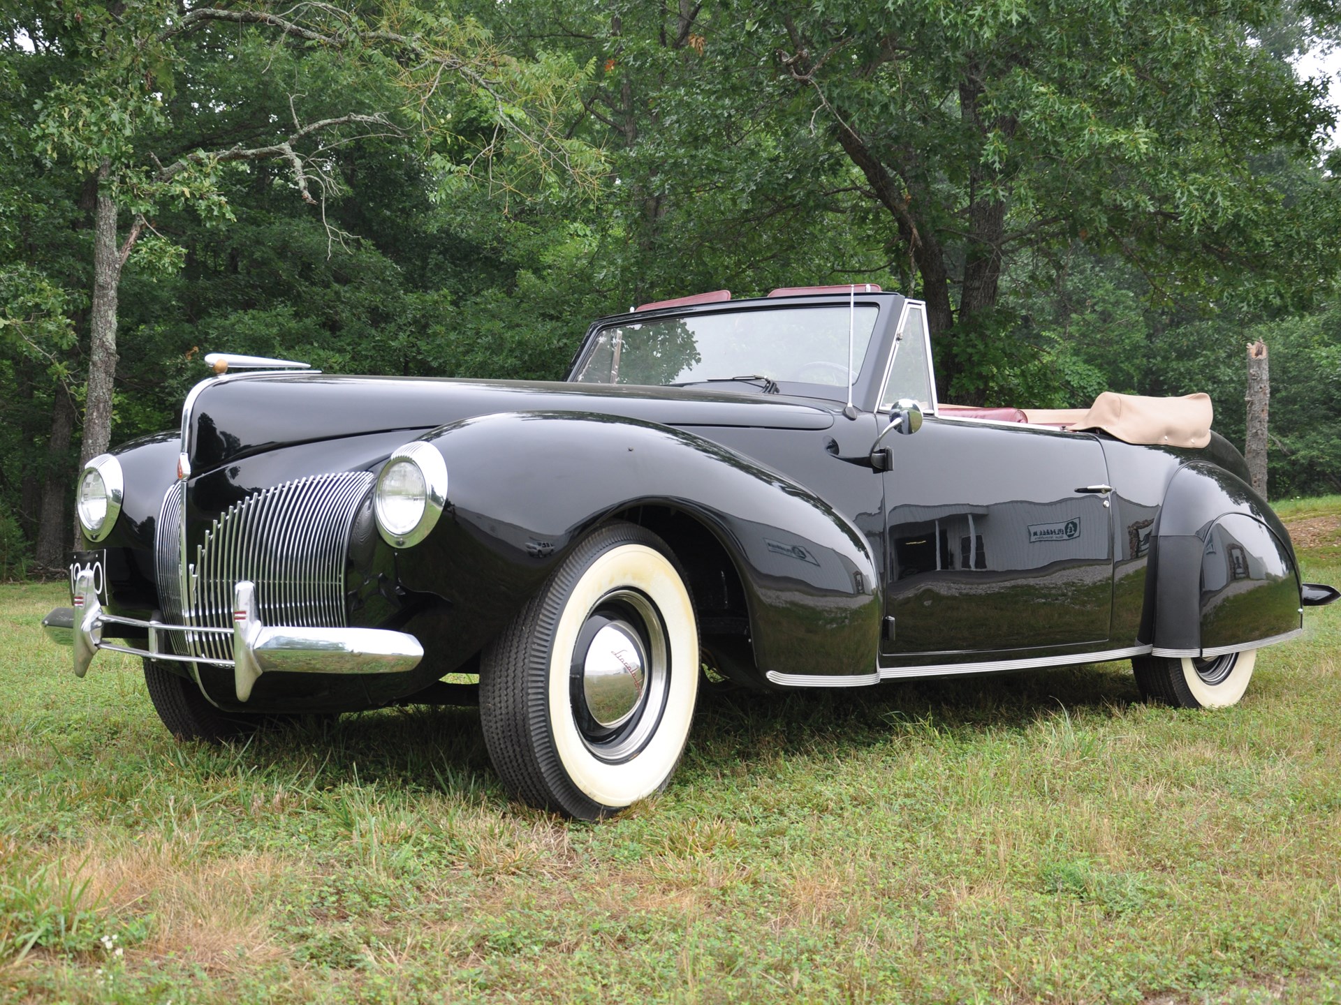
[[[646,300],[852,279],[931,297],[919,256],[937,244],[951,399],[1207,390],[1240,442],[1242,343],[1265,326],[1290,381],[1274,485],[1341,469],[1325,320],[1341,226],[1318,163],[1332,113],[1285,63],[1334,31],[1328,7],[294,11],[318,40],[173,35],[182,15],[158,0],[4,15],[0,503],[30,539],[52,410],[82,394],[103,162],[105,190],[152,224],[121,283],[115,440],[172,427],[205,351],[557,379],[590,319]],[[413,36],[422,59],[369,31]],[[798,40],[809,80],[783,62]],[[440,74],[447,58],[463,72]],[[223,155],[349,113],[385,125],[298,145],[314,204],[291,162]],[[999,295],[967,311],[995,204]]]

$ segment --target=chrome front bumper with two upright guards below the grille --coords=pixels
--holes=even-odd
[[[42,619],[47,635],[74,647],[75,677],[89,673],[99,649],[129,653],[172,663],[205,663],[233,670],[237,701],[251,697],[263,673],[279,670],[298,674],[398,674],[413,670],[424,658],[424,647],[413,635],[384,628],[307,628],[263,624],[256,616],[256,587],[243,580],[233,587],[233,627],[212,628],[168,624],[107,614],[98,603],[93,571],[75,580],[74,608],[58,607]],[[107,624],[126,624],[149,632],[149,649],[113,645],[102,638]],[[232,635],[232,659],[184,657],[165,646],[165,635]]]

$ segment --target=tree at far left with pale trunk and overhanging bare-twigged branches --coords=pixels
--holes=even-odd
[[[398,29],[397,19],[408,29]],[[464,99],[493,133],[469,150],[475,162],[495,158],[511,142],[511,153],[520,153],[542,174],[558,166],[586,168],[582,147],[552,130],[566,68],[520,67],[475,25],[443,15],[388,8],[362,17],[314,4],[282,16],[149,0],[87,4],[72,13],[62,8],[56,21],[58,44],[80,59],[76,72],[44,99],[35,135],[51,163],[68,162],[97,180],[82,460],[110,442],[122,271],[146,229],[153,232],[152,216],[165,205],[190,204],[227,221],[231,210],[220,176],[228,165],[279,161],[296,194],[322,206],[338,189],[327,169],[334,150],[371,137],[409,138],[410,126],[417,126],[416,139],[409,141],[413,151],[420,142],[432,142],[440,115],[451,118],[440,106]],[[39,21],[36,38],[47,24]],[[294,90],[288,107],[240,107],[229,91],[247,68],[266,72],[280,55],[302,78],[315,76],[322,95],[314,100]],[[306,66],[304,55],[315,56],[314,67]],[[337,59],[320,58],[330,55]],[[192,56],[229,62],[227,79],[192,72]],[[345,86],[331,91],[331,84]],[[201,109],[212,114],[201,115]],[[441,169],[464,166],[452,159],[460,151],[453,146],[464,150],[461,139],[452,131],[434,150]],[[122,233],[123,212],[130,222]],[[331,237],[341,234],[331,230]],[[153,253],[162,265],[180,261],[166,243],[154,244]]]

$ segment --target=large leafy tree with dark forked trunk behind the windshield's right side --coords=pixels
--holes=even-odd
[[[1333,31],[1330,5],[1303,13]],[[1325,87],[1261,44],[1291,15],[1242,0],[751,4],[732,42],[756,80],[790,78],[860,168],[916,265],[941,391],[980,401],[975,360],[1015,320],[1011,256],[1078,239],[1212,302],[1301,304],[1326,285],[1334,186],[1291,204],[1252,170],[1316,158],[1334,122]]]

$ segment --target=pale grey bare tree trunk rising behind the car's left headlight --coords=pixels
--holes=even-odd
[[[99,174],[106,178],[106,165]],[[111,390],[117,379],[117,287],[121,284],[122,264],[122,255],[117,248],[117,204],[99,188],[94,208],[93,303],[89,311],[91,344],[80,464],[105,453],[111,442]]]

